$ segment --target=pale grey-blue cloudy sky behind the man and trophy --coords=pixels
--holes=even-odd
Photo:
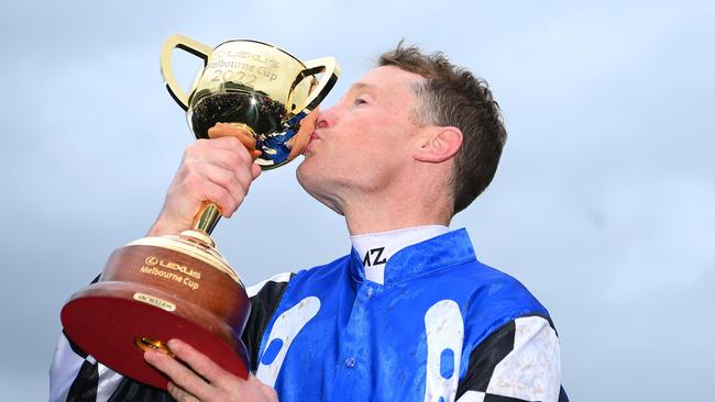
[[[158,72],[173,33],[336,56],[327,104],[403,37],[486,78],[509,139],[452,226],[549,309],[571,399],[715,400],[707,1],[4,3],[0,399],[46,400],[64,301],[162,206],[191,142]],[[176,57],[188,85],[200,63]],[[248,283],[349,252],[296,166],[265,172],[215,232]]]

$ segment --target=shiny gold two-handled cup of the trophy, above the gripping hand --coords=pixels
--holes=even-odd
[[[176,47],[206,64],[189,94],[173,74]],[[162,74],[169,93],[187,111],[197,138],[208,138],[208,130],[217,123],[237,124],[256,137],[262,152],[256,163],[268,169],[292,159],[295,135],[310,135],[300,131],[300,123],[330,92],[340,68],[332,57],[300,62],[263,42],[233,40],[211,49],[175,35],[164,44]],[[320,80],[318,74],[322,74]]]

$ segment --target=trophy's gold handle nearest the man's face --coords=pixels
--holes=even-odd
[[[320,79],[320,82],[318,82],[318,86],[316,86],[316,88],[310,92],[308,99],[306,99],[302,104],[297,105],[293,109],[293,111],[290,111],[290,119],[288,120],[289,125],[296,124],[302,118],[308,115],[308,113],[310,113],[314,109],[316,109],[318,104],[320,104],[320,102],[326,99],[332,87],[336,85],[336,81],[338,81],[338,77],[340,76],[340,66],[338,65],[338,62],[336,62],[334,57],[328,56],[315,58],[312,60],[305,62],[304,64],[306,65],[306,68],[300,71],[300,74],[298,74],[298,77],[296,77],[296,80],[293,83],[293,88],[290,89],[292,94],[295,87],[305,78],[318,75],[320,72],[323,72],[323,75]]]

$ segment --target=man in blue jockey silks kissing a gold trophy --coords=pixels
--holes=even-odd
[[[249,289],[252,375],[226,372],[180,339],[150,350],[182,401],[566,401],[546,309],[479,263],[452,216],[491,182],[506,139],[482,80],[441,54],[382,55],[320,112],[300,185],[344,215],[351,254]],[[230,216],[258,176],[252,142],[218,126],[189,146],[151,235],[191,226],[205,200]],[[241,144],[245,145],[241,146]],[[61,339],[58,400],[168,400]]]

